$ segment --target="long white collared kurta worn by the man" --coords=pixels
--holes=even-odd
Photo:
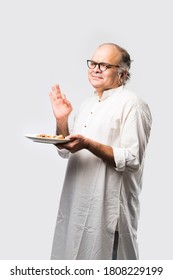
[[[123,86],[93,94],[76,116],[73,134],[112,146],[116,168],[86,149],[70,154],[51,259],[111,260],[115,230],[118,259],[138,259],[137,224],[148,105]]]

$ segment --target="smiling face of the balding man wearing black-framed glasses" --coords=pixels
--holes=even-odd
[[[118,65],[121,59],[121,53],[114,46],[104,45],[96,49],[92,60],[99,63],[105,62],[112,65]],[[118,67],[111,67],[106,71],[101,71],[98,65],[94,69],[88,70],[88,79],[91,85],[102,92],[119,86]]]

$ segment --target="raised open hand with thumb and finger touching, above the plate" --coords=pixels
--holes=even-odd
[[[71,103],[66,99],[66,96],[61,93],[58,84],[52,86],[52,91],[49,93],[52,109],[57,122],[68,119],[73,110]]]

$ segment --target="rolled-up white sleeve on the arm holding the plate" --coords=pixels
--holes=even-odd
[[[130,103],[122,116],[120,145],[113,147],[117,171],[140,168],[150,135],[152,118],[148,105],[142,100]]]

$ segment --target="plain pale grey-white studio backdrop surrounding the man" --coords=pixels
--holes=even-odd
[[[128,87],[153,127],[141,193],[140,259],[173,259],[172,8],[169,0],[0,2],[0,259],[49,259],[66,160],[27,133],[54,133],[48,93],[92,94],[86,59],[104,42],[134,60]]]

